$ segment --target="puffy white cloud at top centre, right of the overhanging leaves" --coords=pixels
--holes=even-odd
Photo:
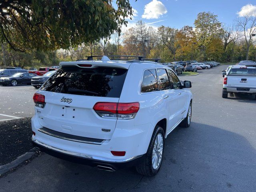
[[[144,19],[158,19],[163,14],[167,13],[167,9],[164,4],[158,0],[152,0],[144,7]]]

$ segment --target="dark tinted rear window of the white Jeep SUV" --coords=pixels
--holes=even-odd
[[[120,68],[97,67],[84,69],[74,66],[63,67],[46,81],[41,90],[119,98],[126,74],[127,70]]]

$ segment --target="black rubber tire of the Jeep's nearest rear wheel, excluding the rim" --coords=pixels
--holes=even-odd
[[[160,161],[160,164],[159,164],[158,168],[154,169],[153,166],[152,166],[152,153],[153,153],[153,148],[154,148],[154,142],[155,142],[156,137],[158,136],[158,134],[162,134],[163,142],[165,143],[164,130],[163,130],[162,127],[157,125],[154,129],[153,134],[152,134],[152,138],[150,140],[146,156],[136,166],[136,170],[139,174],[152,177],[152,176],[156,175],[158,173],[158,171],[160,170],[160,167],[162,165],[163,156],[164,156],[164,144],[163,144],[163,151],[162,151],[162,159]]]

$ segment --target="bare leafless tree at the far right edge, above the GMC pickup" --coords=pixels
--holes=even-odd
[[[237,18],[236,22],[245,38],[246,60],[248,60],[249,48],[256,42],[256,40],[253,40],[253,36],[256,34],[256,17],[252,15],[244,15],[242,18]]]

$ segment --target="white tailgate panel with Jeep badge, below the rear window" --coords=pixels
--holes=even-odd
[[[98,116],[93,106],[98,101],[118,102],[119,98],[99,98],[46,91],[38,93],[45,96],[46,102],[44,108],[37,108],[41,126],[76,136],[111,139],[117,119]],[[66,99],[72,102],[66,102]],[[104,132],[102,129],[109,129],[110,132]]]

